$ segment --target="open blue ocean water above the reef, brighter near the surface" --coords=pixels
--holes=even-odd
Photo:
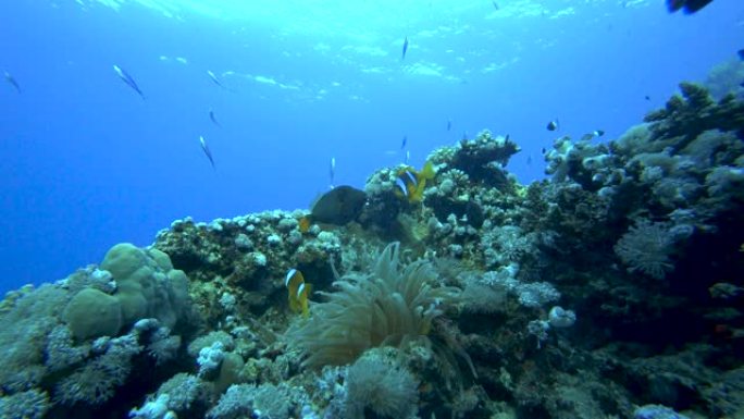
[[[0,291],[186,215],[307,208],[332,158],[336,185],[363,187],[488,128],[541,178],[556,137],[617,137],[743,34],[739,0],[1,2],[0,70],[21,90],[1,81]]]

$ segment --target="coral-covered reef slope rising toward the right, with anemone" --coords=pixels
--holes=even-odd
[[[556,139],[546,181],[483,132],[372,173],[354,217],[186,218],[12,292],[0,416],[743,417],[744,102],[681,93]]]

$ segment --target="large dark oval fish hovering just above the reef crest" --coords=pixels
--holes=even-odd
[[[356,220],[367,202],[367,194],[351,186],[336,186],[312,206],[308,221],[344,225]]]

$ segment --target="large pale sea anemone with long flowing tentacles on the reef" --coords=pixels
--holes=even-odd
[[[425,260],[399,269],[399,244],[388,245],[368,274],[348,274],[334,283],[335,293],[319,293],[326,303],[311,307],[311,317],[287,336],[300,348],[307,366],[352,362],[371,347],[400,346],[426,336],[442,306],[458,289],[436,286],[436,272]]]

